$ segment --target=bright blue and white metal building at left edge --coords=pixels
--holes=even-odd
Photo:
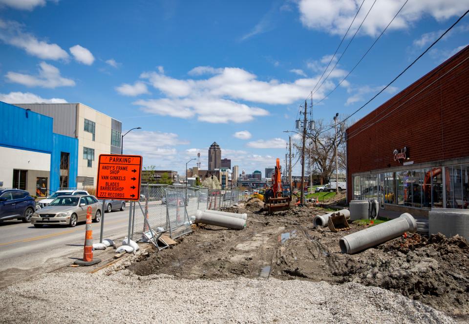
[[[0,187],[33,196],[76,187],[78,140],[52,127],[52,118],[0,101]]]

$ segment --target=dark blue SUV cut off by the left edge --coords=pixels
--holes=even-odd
[[[0,188],[0,222],[15,218],[23,223],[31,222],[35,209],[36,202],[29,192]]]

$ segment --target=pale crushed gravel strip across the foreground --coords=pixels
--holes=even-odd
[[[51,273],[0,290],[1,323],[454,323],[377,287]]]

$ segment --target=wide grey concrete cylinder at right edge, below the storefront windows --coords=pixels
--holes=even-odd
[[[432,208],[428,213],[428,232],[446,237],[458,234],[469,240],[469,210]]]

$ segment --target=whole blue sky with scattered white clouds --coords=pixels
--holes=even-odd
[[[263,174],[284,158],[283,131],[293,129],[362,0],[201,2],[0,0],[0,100],[83,102],[123,121],[124,131],[140,126],[124,152],[160,169],[183,173],[197,152],[204,168],[216,141],[232,165]],[[403,3],[364,0],[313,102]],[[408,0],[361,64],[314,106],[313,119],[355,111],[468,8],[469,0]],[[354,120],[466,46],[468,31],[465,18]]]

